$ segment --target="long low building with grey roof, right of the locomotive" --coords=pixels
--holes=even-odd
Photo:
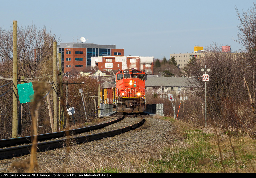
[[[195,78],[187,77],[147,77],[146,80],[147,91],[160,94],[164,98],[167,98],[168,94],[174,94],[181,99],[188,99],[199,86]]]

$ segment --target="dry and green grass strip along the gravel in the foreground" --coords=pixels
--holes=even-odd
[[[169,143],[141,148],[140,153],[124,155],[88,155],[77,145],[69,152],[65,168],[54,167],[46,162],[39,165],[44,172],[223,172],[218,142],[213,127],[200,127],[170,117],[175,130],[169,135]],[[236,172],[236,163],[228,133],[216,128],[226,172]],[[255,142],[249,136],[231,137],[236,151],[238,171],[255,172]],[[63,152],[63,155],[65,153]]]

